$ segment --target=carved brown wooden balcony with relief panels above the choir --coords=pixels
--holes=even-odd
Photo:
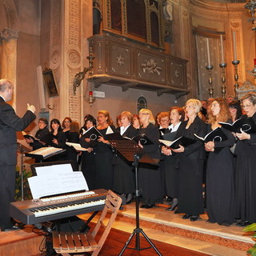
[[[122,90],[153,90],[158,95],[189,93],[186,60],[106,34],[94,35],[89,41],[95,57],[91,78],[97,87],[109,83],[121,86]]]

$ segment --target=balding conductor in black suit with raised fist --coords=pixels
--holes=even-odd
[[[0,79],[0,228],[2,231],[17,229],[10,220],[10,202],[14,202],[17,137],[16,131],[24,130],[35,119],[33,105],[19,118],[8,103],[13,96],[14,85]]]

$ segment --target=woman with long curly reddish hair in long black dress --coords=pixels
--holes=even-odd
[[[220,128],[219,124],[228,119],[229,110],[225,99],[215,98],[208,113],[207,132],[211,132],[208,136],[211,138],[205,143],[205,149],[209,152],[206,167],[206,208],[209,217],[207,222],[217,222],[224,226],[234,223],[234,171],[230,152],[234,136],[229,130]]]

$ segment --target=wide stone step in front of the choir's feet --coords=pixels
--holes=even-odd
[[[174,234],[182,238],[225,246],[242,252],[254,246],[251,233],[243,232],[242,227],[235,224],[219,226],[215,223],[207,223],[206,214],[200,215],[198,221],[190,222],[190,219],[182,219],[183,214],[166,211],[166,207],[166,205],[158,205],[151,209],[140,209],[139,223],[142,229]],[[136,226],[135,204],[124,206],[118,214],[117,221]]]

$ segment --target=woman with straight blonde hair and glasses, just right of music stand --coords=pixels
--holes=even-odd
[[[159,159],[159,131],[155,126],[154,116],[148,109],[139,110],[138,113],[141,127],[138,130],[138,134],[145,134],[153,144],[142,145],[139,142],[139,146],[142,148],[142,154],[147,154],[150,158]],[[138,166],[138,186],[141,191],[141,208],[152,208],[155,203],[161,202],[161,176],[158,168],[158,164],[149,164],[140,162]]]

